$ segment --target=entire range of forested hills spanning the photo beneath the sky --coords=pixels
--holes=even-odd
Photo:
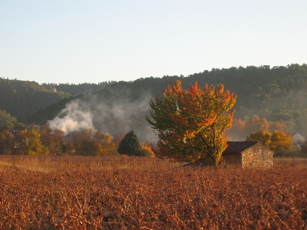
[[[205,70],[186,77],[148,77],[130,82],[79,85],[44,83],[39,86],[34,82],[1,79],[0,110],[6,110],[14,117],[24,117],[25,114],[38,111],[29,122],[44,125],[65,106],[66,110],[60,114],[58,121],[63,117],[69,117],[69,106],[74,103],[74,109],[78,108],[80,114],[90,114],[88,117],[92,119],[95,128],[113,135],[126,133],[134,128],[142,139],[142,135],[146,136],[148,133],[149,125],[145,116],[150,111],[150,98],[161,96],[169,81],[174,82],[175,79],[182,81],[184,89],[195,81],[198,81],[201,87],[205,84],[222,83],[225,88],[238,95],[235,105],[238,112],[235,113],[235,118],[247,120],[248,117],[257,115],[260,118],[265,117],[267,121],[279,121],[287,125],[292,134],[300,132],[307,136],[306,64],[231,67]],[[60,90],[73,95],[79,92],[79,95],[68,99],[67,93],[51,92],[49,88],[53,87],[58,90],[57,92]]]

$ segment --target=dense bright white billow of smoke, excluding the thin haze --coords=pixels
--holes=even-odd
[[[47,121],[50,128],[63,130],[65,133],[93,128],[93,115],[80,100],[69,102],[53,120]]]

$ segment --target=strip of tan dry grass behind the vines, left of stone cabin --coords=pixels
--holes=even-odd
[[[153,169],[165,170],[184,163],[154,157],[91,157],[91,156],[1,156],[0,168],[15,166],[43,172],[77,169]]]

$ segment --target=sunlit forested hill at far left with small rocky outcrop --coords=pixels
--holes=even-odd
[[[0,110],[6,110],[20,122],[27,122],[27,117],[38,109],[68,97],[67,93],[54,92],[36,82],[0,78]]]

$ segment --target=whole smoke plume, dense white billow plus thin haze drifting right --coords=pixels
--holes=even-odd
[[[65,133],[78,132],[82,129],[98,129],[116,136],[126,134],[131,129],[140,140],[157,140],[145,119],[149,114],[149,93],[130,101],[130,92],[119,100],[104,101],[95,94],[69,102],[52,120],[47,121],[50,128],[63,130]],[[142,117],[142,121],[140,121]]]

